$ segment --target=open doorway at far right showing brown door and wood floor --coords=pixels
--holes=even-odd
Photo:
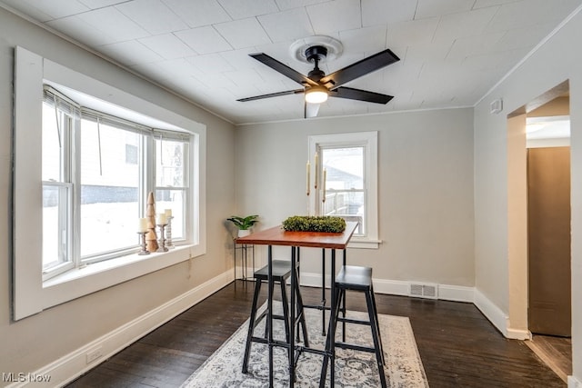
[[[572,373],[569,96],[526,115],[527,344],[566,382]]]

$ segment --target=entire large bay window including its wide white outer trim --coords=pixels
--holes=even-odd
[[[206,125],[22,47],[14,101],[13,319],[206,254]],[[138,255],[149,193],[176,247]]]

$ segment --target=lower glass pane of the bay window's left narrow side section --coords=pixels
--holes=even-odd
[[[43,270],[69,262],[67,224],[69,189],[43,185]]]

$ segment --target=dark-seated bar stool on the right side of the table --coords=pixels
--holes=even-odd
[[[380,375],[380,384],[383,388],[386,388],[386,375],[384,374],[384,349],[382,347],[382,338],[380,336],[380,326],[378,322],[378,314],[376,310],[376,298],[374,297],[374,288],[372,287],[372,268],[361,267],[355,265],[344,265],[342,266],[339,274],[336,276],[335,280],[336,288],[336,298],[335,305],[333,306],[332,319],[335,319],[335,324],[330,324],[333,326],[333,333],[330,329],[327,334],[327,342],[334,341],[335,347],[341,349],[351,349],[360,352],[376,353],[376,363],[378,366],[378,373]],[[366,304],[367,304],[367,314],[368,321],[356,320],[352,318],[346,318],[346,291],[359,291],[366,294]],[[343,304],[343,307],[341,307]],[[343,316],[339,316],[340,311]],[[343,335],[342,341],[336,341],[336,327],[337,323],[342,323]],[[358,345],[354,343],[346,343],[346,323],[356,323],[365,324],[370,326],[372,331],[372,339],[374,340],[374,347]],[[329,344],[329,343],[328,343]],[[335,365],[331,367],[331,380],[334,379]],[[322,369],[322,381],[325,381],[327,373],[327,357],[324,360],[324,366]],[[332,383],[333,386],[333,383]]]

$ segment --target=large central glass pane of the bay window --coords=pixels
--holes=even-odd
[[[137,244],[139,165],[126,163],[126,145],[139,136],[82,120],[81,257]]]

